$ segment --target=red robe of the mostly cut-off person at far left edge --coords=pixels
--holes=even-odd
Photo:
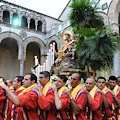
[[[5,90],[0,87],[0,120],[5,118],[7,96]]]

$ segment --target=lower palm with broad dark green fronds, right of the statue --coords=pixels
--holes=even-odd
[[[116,42],[116,34],[106,26],[98,30],[94,36],[86,39],[81,37],[76,43],[79,66],[86,65],[87,68],[91,67],[94,72],[101,68],[110,67],[117,50]]]

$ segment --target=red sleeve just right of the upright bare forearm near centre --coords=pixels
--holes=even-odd
[[[62,109],[68,108],[70,105],[70,98],[67,93],[63,93],[60,97],[60,100],[62,102]]]

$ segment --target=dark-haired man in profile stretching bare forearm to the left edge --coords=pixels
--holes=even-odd
[[[37,113],[37,100],[38,91],[32,90],[34,86],[37,86],[36,75],[29,73],[26,74],[23,79],[23,87],[25,89],[20,93],[19,96],[15,95],[5,84],[1,83],[0,86],[5,89],[9,99],[16,105],[22,107],[22,115],[20,120],[39,120]]]

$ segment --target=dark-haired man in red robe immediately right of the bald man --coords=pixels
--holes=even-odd
[[[97,78],[97,87],[103,92],[103,106],[102,113],[104,115],[103,120],[107,119],[115,119],[114,117],[114,100],[112,94],[109,92],[110,90],[106,87],[106,79],[104,77]]]

